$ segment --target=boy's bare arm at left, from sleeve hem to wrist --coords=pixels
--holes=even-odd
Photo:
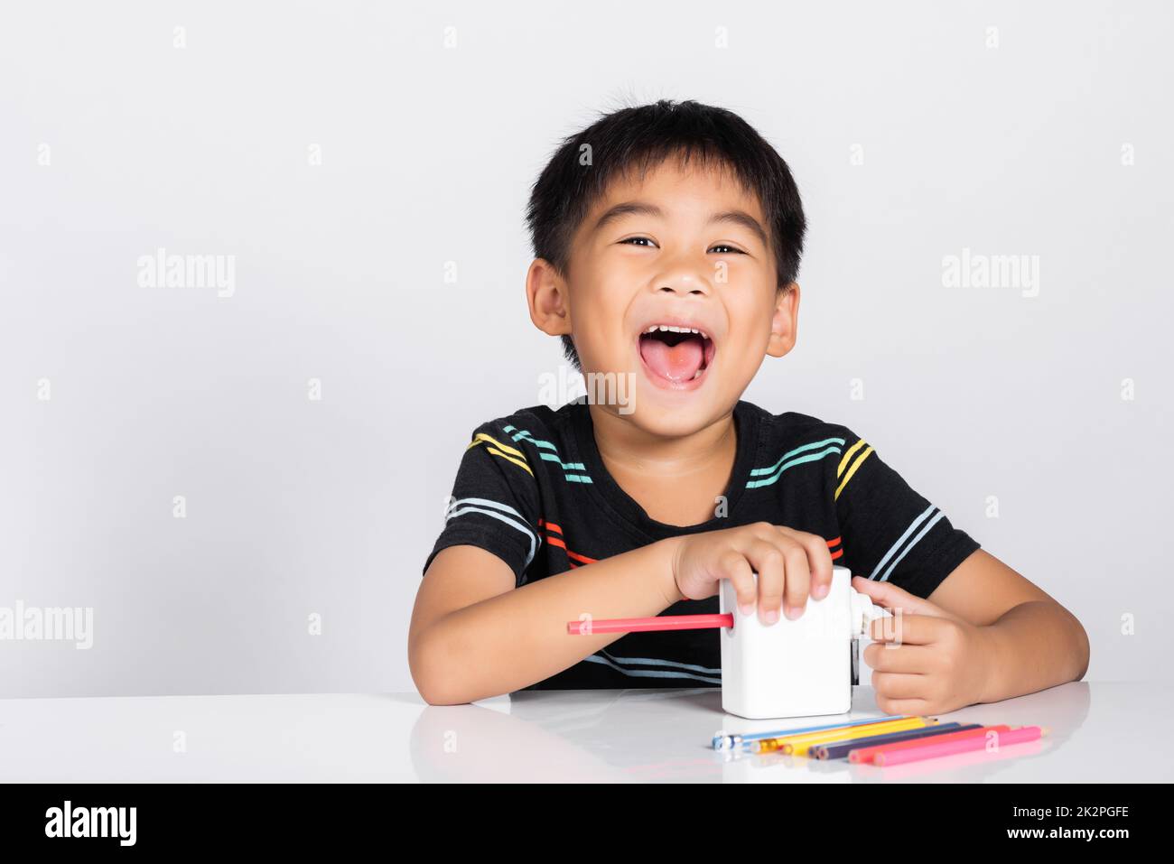
[[[571,635],[567,622],[657,615],[681,594],[679,538],[515,588],[510,566],[477,546],[441,549],[416,596],[407,660],[430,704],[498,696],[549,677],[622,633]]]

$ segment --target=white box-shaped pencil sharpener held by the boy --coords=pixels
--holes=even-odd
[[[724,711],[765,720],[851,710],[852,640],[875,619],[891,617],[851,581],[846,567],[834,567],[825,598],[808,598],[795,621],[781,614],[763,625],[757,606],[743,615],[733,585],[722,580],[720,609],[734,615],[734,627],[721,628]]]

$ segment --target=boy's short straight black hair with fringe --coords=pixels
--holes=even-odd
[[[591,148],[589,161],[583,158],[586,147]],[[534,183],[526,209],[534,257],[545,258],[566,278],[571,239],[608,184],[630,170],[643,177],[670,156],[727,167],[758,196],[774,245],[777,289],[794,282],[807,220],[790,169],[737,114],[693,100],[662,99],[621,108],[564,139]],[[562,350],[582,371],[569,336],[562,337]]]

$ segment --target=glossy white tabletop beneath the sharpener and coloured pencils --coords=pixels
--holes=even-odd
[[[1170,782],[1172,709],[1169,684],[1075,682],[938,715],[1050,727],[1043,741],[876,768],[710,745],[718,729],[876,716],[869,687],[855,688],[850,715],[809,721],[723,714],[716,689],[521,693],[453,707],[416,694],[11,698],[0,700],[0,772],[21,782]]]

